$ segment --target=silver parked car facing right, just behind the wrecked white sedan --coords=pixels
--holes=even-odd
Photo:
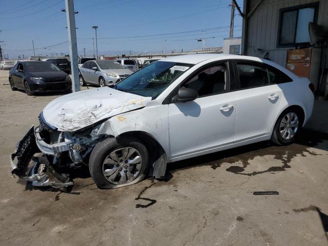
[[[115,85],[133,72],[113,60],[90,60],[80,68],[80,86],[86,84],[100,87]]]

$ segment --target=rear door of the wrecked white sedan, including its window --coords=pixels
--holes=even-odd
[[[263,63],[235,61],[237,115],[234,142],[265,137],[278,113],[282,91]]]

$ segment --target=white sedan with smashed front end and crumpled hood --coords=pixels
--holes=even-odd
[[[53,185],[38,167],[59,172],[89,165],[98,188],[124,187],[147,174],[164,176],[168,162],[263,140],[291,144],[312,114],[313,89],[309,79],[257,57],[168,57],[131,74],[115,89],[53,100],[12,159],[25,160],[26,149],[30,155],[43,153],[33,169],[40,176],[27,178],[34,177],[34,185]],[[12,160],[13,173],[24,177],[26,165]],[[56,174],[61,186],[72,185],[61,172]]]

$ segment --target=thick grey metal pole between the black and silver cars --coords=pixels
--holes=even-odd
[[[75,29],[75,15],[74,15],[74,1],[65,0],[66,17],[67,17],[67,31],[68,43],[70,48],[71,71],[72,71],[72,91],[80,91],[78,65],[77,65],[77,42]]]

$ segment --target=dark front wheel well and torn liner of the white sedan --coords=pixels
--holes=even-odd
[[[117,141],[119,138],[124,137],[135,137],[144,144],[149,152],[150,163],[152,167],[149,174],[155,178],[165,176],[166,165],[167,165],[167,154],[159,142],[150,134],[142,131],[126,132],[116,137]]]

